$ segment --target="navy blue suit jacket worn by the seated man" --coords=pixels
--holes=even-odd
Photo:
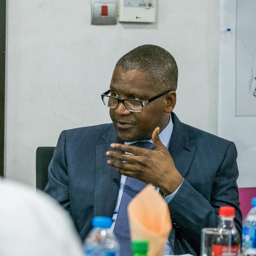
[[[200,254],[203,227],[218,225],[219,207],[235,207],[241,235],[237,150],[234,143],[179,121],[172,113],[169,151],[184,181],[168,203],[174,254]],[[112,217],[121,175],[107,164],[111,143],[122,143],[113,124],[76,128],[60,134],[49,166],[45,192],[71,215],[81,239],[94,216]]]

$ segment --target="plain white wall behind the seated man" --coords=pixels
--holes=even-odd
[[[217,134],[219,1],[159,0],[151,25],[90,25],[89,0],[8,3],[6,176],[35,184],[35,151],[64,129],[111,122],[100,94],[117,60],[162,46],[179,67],[181,121]]]

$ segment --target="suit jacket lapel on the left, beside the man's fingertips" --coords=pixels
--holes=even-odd
[[[106,152],[113,150],[111,143],[122,143],[114,131],[114,128],[103,135],[106,143],[96,146],[96,171],[94,214],[95,216],[113,216],[117,202],[121,175],[117,170],[107,164]]]

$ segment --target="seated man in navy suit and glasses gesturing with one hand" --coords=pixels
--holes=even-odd
[[[169,52],[139,46],[118,61],[102,94],[113,124],[61,133],[45,192],[70,213],[82,239],[92,217],[109,216],[121,256],[130,254],[127,205],[148,183],[170,210],[165,253],[199,254],[201,228],[218,225],[220,206],[235,207],[241,234],[236,146],[179,121],[177,79]]]

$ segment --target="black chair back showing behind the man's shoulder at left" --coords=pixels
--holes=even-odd
[[[55,147],[38,147],[36,150],[36,188],[44,190],[48,183],[48,166]]]

